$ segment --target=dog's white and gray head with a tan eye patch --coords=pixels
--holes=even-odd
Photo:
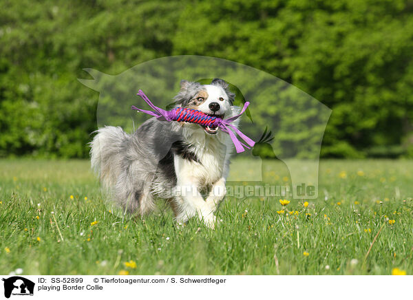
[[[201,85],[189,81],[181,81],[180,85],[180,92],[174,98],[177,105],[198,109],[204,114],[218,118],[224,118],[231,114],[235,94],[229,91],[228,84],[222,79],[215,78],[210,85]],[[202,127],[208,134],[218,132],[218,127],[210,128],[195,124],[186,126]]]

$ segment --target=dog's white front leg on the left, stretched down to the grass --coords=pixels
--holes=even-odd
[[[198,185],[193,182],[181,183],[178,184],[177,191],[179,192],[178,197],[176,197],[176,203],[178,204],[176,220],[187,222],[191,217],[198,215],[205,225],[214,228],[215,215],[213,215],[213,211],[198,191]]]

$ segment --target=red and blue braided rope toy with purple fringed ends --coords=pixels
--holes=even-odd
[[[231,140],[233,141],[235,145],[235,150],[237,153],[243,152],[245,149],[244,147],[251,149],[250,147],[253,147],[255,142],[251,140],[251,138],[248,138],[244,133],[242,133],[237,127],[234,125],[231,125],[231,122],[236,120],[237,118],[240,118],[240,116],[244,113],[246,110],[246,107],[248,107],[249,102],[246,102],[244,104],[244,107],[242,107],[242,110],[240,114],[237,114],[237,116],[233,116],[231,118],[227,119],[222,119],[222,118],[217,118],[214,116],[209,116],[207,114],[204,114],[202,111],[196,110],[196,109],[189,109],[189,108],[182,108],[182,107],[175,107],[174,109],[171,109],[170,111],[166,111],[164,109],[161,109],[159,107],[156,107],[151,103],[151,100],[142,92],[140,89],[138,91],[138,96],[140,96],[145,102],[154,110],[154,111],[149,111],[145,109],[139,109],[132,105],[131,109],[143,112],[145,114],[149,114],[151,116],[154,116],[158,118],[158,120],[165,120],[167,122],[171,121],[177,121],[177,122],[190,122],[190,123],[195,123],[199,124],[202,126],[208,126],[210,128],[215,128],[218,127],[221,129],[221,131],[228,133]],[[246,146],[246,144],[240,142],[240,140],[237,139],[237,136],[235,136],[235,133],[237,133],[242,140],[244,140],[250,147]]]

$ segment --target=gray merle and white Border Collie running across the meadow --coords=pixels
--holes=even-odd
[[[240,111],[233,106],[235,94],[220,78],[210,85],[181,81],[173,99],[176,107],[198,109],[218,118],[230,118]],[[214,213],[226,195],[233,151],[227,133],[218,127],[157,118],[142,123],[132,134],[111,126],[95,132],[90,142],[92,169],[109,191],[110,200],[127,213],[145,215],[162,198],[180,224],[198,216],[214,228]]]

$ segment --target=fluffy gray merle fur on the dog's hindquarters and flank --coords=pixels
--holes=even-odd
[[[151,118],[129,135],[120,127],[107,126],[96,131],[91,142],[92,168],[100,175],[109,197],[129,213],[148,213],[153,208],[155,183],[160,197],[176,182],[173,160],[166,161],[171,145],[182,140],[179,125]],[[158,164],[163,162],[162,165]],[[169,175],[169,176],[167,176]],[[166,191],[163,193],[162,191]],[[143,202],[145,198],[145,202]]]

